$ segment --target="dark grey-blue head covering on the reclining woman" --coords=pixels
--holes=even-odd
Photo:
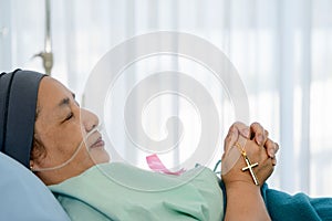
[[[22,70],[0,74],[0,151],[28,168],[38,90],[43,76]]]

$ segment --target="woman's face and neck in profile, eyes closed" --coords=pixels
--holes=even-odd
[[[75,102],[74,94],[52,77],[43,77],[38,92],[32,169],[52,168],[69,160],[83,137],[98,125],[97,117]],[[69,164],[53,169],[37,171],[44,183],[54,185],[77,176],[95,164],[107,162],[101,134],[95,130],[86,138]]]

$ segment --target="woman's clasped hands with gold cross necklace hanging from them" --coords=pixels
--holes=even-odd
[[[225,138],[225,151],[221,162],[228,161],[227,164],[229,164],[227,159],[229,151],[239,151],[240,154],[241,149],[239,147],[243,148],[251,164],[258,162],[258,166],[253,168],[253,172],[261,186],[273,172],[277,165],[276,154],[279,149],[279,145],[268,138],[268,130],[264,130],[258,123],[251,124],[250,127],[242,123],[235,123],[229,128],[228,135]],[[228,186],[229,183],[239,181],[253,185],[250,172],[242,171],[242,168],[247,167],[243,157],[237,157],[234,160],[235,162],[231,165],[229,171],[221,173],[225,185]],[[221,164],[221,171],[225,166],[225,164]]]

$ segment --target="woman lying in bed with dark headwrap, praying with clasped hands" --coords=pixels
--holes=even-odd
[[[120,162],[108,164],[110,156],[95,130],[97,117],[81,108],[74,94],[50,76],[20,70],[2,73],[0,114],[1,151],[34,171],[72,220],[332,217],[330,199],[290,197],[253,183],[253,178],[262,185],[271,175],[278,150],[259,124],[250,128],[235,124],[230,128],[225,139],[224,161],[230,158],[227,152],[238,146],[239,139],[246,145],[239,145],[245,147],[239,149],[243,158],[222,176],[220,188],[214,172],[203,167],[175,177]],[[250,168],[251,173],[242,172],[241,168],[250,165],[249,158],[258,166]]]

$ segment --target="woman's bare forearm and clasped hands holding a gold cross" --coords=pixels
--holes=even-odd
[[[251,136],[241,133],[248,131],[248,127],[243,129],[243,125],[236,123],[230,129],[225,139],[225,151],[227,152],[238,139],[245,140],[246,151],[252,162],[259,162],[255,168],[255,172],[262,185],[266,179],[272,173],[274,161],[276,145],[267,139],[262,127],[259,124],[251,125],[250,129],[253,135],[252,140],[248,139]],[[240,128],[239,128],[240,127]],[[241,135],[245,135],[246,138]],[[263,135],[261,138],[258,135]],[[258,145],[260,144],[260,145]],[[266,147],[266,148],[264,148]],[[270,151],[268,156],[268,151]],[[225,156],[225,155],[224,155]],[[226,173],[222,175],[222,180],[227,193],[227,208],[225,220],[270,220],[266,204],[260,194],[260,187],[252,182],[249,172],[242,172],[241,168],[246,166],[245,160],[240,157],[235,166]]]

